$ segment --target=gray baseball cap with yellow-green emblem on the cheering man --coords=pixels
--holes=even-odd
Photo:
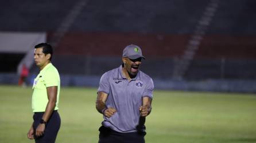
[[[123,57],[128,57],[130,59],[137,59],[137,58],[143,58],[145,57],[142,55],[141,48],[137,45],[128,45],[123,49]]]

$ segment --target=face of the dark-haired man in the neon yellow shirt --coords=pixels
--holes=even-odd
[[[42,53],[42,47],[34,49],[34,63],[36,63],[36,65],[40,67],[40,69],[42,69],[45,65],[47,65],[47,63],[49,63],[50,56],[51,54],[45,55],[44,53]]]

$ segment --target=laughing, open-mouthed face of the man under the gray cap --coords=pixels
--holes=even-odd
[[[123,64],[125,65],[125,69],[129,73],[129,75],[135,77],[139,72],[139,65],[141,65],[141,58],[130,59],[128,57],[125,57],[123,58]]]

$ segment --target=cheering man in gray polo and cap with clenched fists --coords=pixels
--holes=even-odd
[[[154,84],[139,70],[141,48],[123,49],[123,64],[100,78],[96,109],[103,114],[99,143],[145,142],[145,120],[151,111]]]

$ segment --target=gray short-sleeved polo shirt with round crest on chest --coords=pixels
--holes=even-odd
[[[104,73],[98,92],[108,94],[106,106],[117,112],[110,118],[103,116],[102,125],[121,133],[137,132],[142,97],[153,98],[153,89],[152,78],[141,71],[130,82],[122,75],[122,65]]]

